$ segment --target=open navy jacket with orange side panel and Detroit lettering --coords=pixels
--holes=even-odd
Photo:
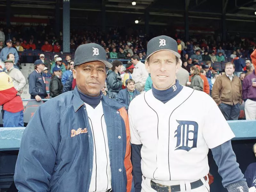
[[[118,102],[101,98],[107,125],[113,191],[130,192],[132,164],[128,115]],[[85,130],[79,132],[79,130]],[[72,131],[73,130],[73,131]],[[78,134],[71,137],[71,132]],[[21,140],[15,167],[23,191],[88,191],[93,139],[86,107],[77,87],[39,106]]]

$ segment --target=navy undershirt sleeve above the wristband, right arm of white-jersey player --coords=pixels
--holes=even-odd
[[[245,181],[244,175],[236,162],[236,155],[232,149],[231,140],[212,148],[213,159],[215,160],[222,177],[223,187],[230,184]]]

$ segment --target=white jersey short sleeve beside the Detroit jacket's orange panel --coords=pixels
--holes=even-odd
[[[136,130],[135,126],[134,126],[134,114],[135,114],[135,110],[134,110],[134,103],[131,102],[130,106],[129,106],[129,111],[128,111],[128,116],[129,116],[129,125],[130,125],[130,132],[131,132],[131,143],[132,144],[136,144],[136,145],[140,145],[142,144],[140,142],[140,136],[138,134],[138,131]]]

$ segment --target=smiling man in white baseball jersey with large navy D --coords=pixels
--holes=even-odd
[[[147,50],[152,90],[129,106],[135,191],[209,192],[210,148],[228,192],[248,192],[231,146],[235,135],[220,109],[209,95],[175,79],[177,42],[158,36]],[[205,105],[198,105],[198,99]]]

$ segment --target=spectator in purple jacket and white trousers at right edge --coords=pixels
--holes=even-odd
[[[256,119],[256,75],[255,70],[244,78],[243,100],[246,120]]]

